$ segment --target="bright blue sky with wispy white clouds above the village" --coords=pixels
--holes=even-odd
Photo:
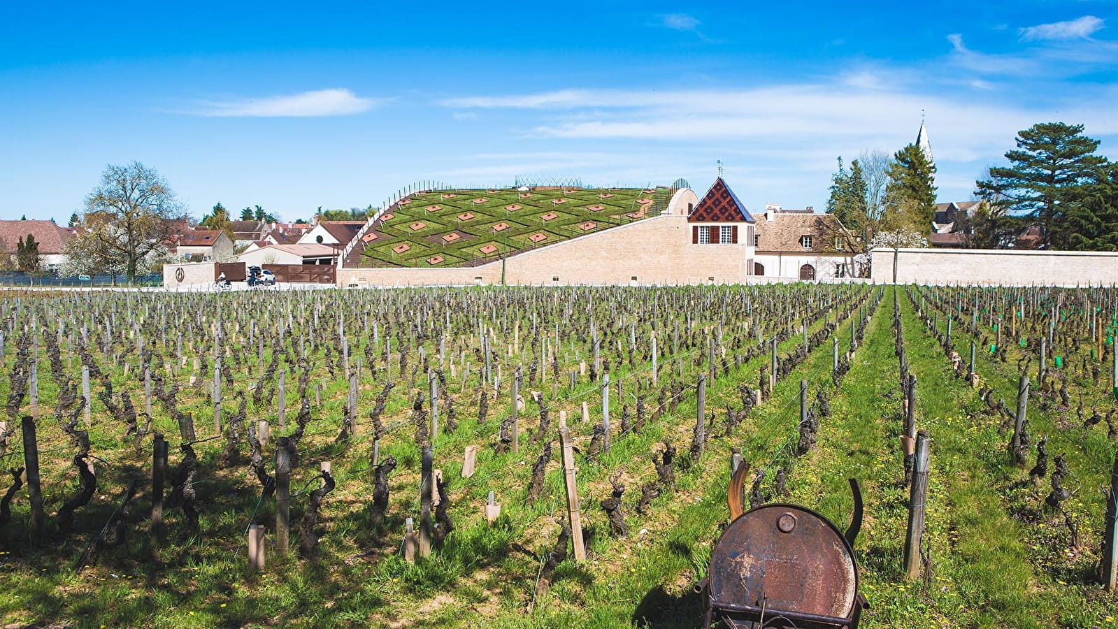
[[[1036,122],[1118,159],[1116,0],[167,4],[4,8],[0,218],[64,222],[133,160],[196,217],[518,175],[701,194],[717,160],[750,209],[822,209],[921,109],[940,200]]]

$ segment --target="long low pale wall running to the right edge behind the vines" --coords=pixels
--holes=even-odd
[[[893,249],[873,250],[873,280],[893,282]],[[1013,251],[988,249],[900,249],[900,284],[1118,284],[1118,254],[1106,251]]]

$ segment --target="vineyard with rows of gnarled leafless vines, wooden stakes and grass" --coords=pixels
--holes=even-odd
[[[697,627],[743,460],[840,527],[860,482],[862,627],[1115,627],[1116,301],[11,290],[0,618]]]

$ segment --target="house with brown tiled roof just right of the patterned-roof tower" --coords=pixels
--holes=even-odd
[[[846,242],[851,235],[835,216],[767,203],[765,213],[754,218],[754,275],[803,280],[851,275],[853,254]]]

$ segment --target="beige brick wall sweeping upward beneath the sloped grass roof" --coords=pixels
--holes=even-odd
[[[752,247],[692,245],[684,216],[661,216],[591,234],[506,260],[505,283],[739,284],[747,280]],[[636,280],[632,278],[636,276]],[[476,268],[341,269],[339,285],[423,286],[500,284],[501,263]],[[555,278],[559,279],[556,280]]]

